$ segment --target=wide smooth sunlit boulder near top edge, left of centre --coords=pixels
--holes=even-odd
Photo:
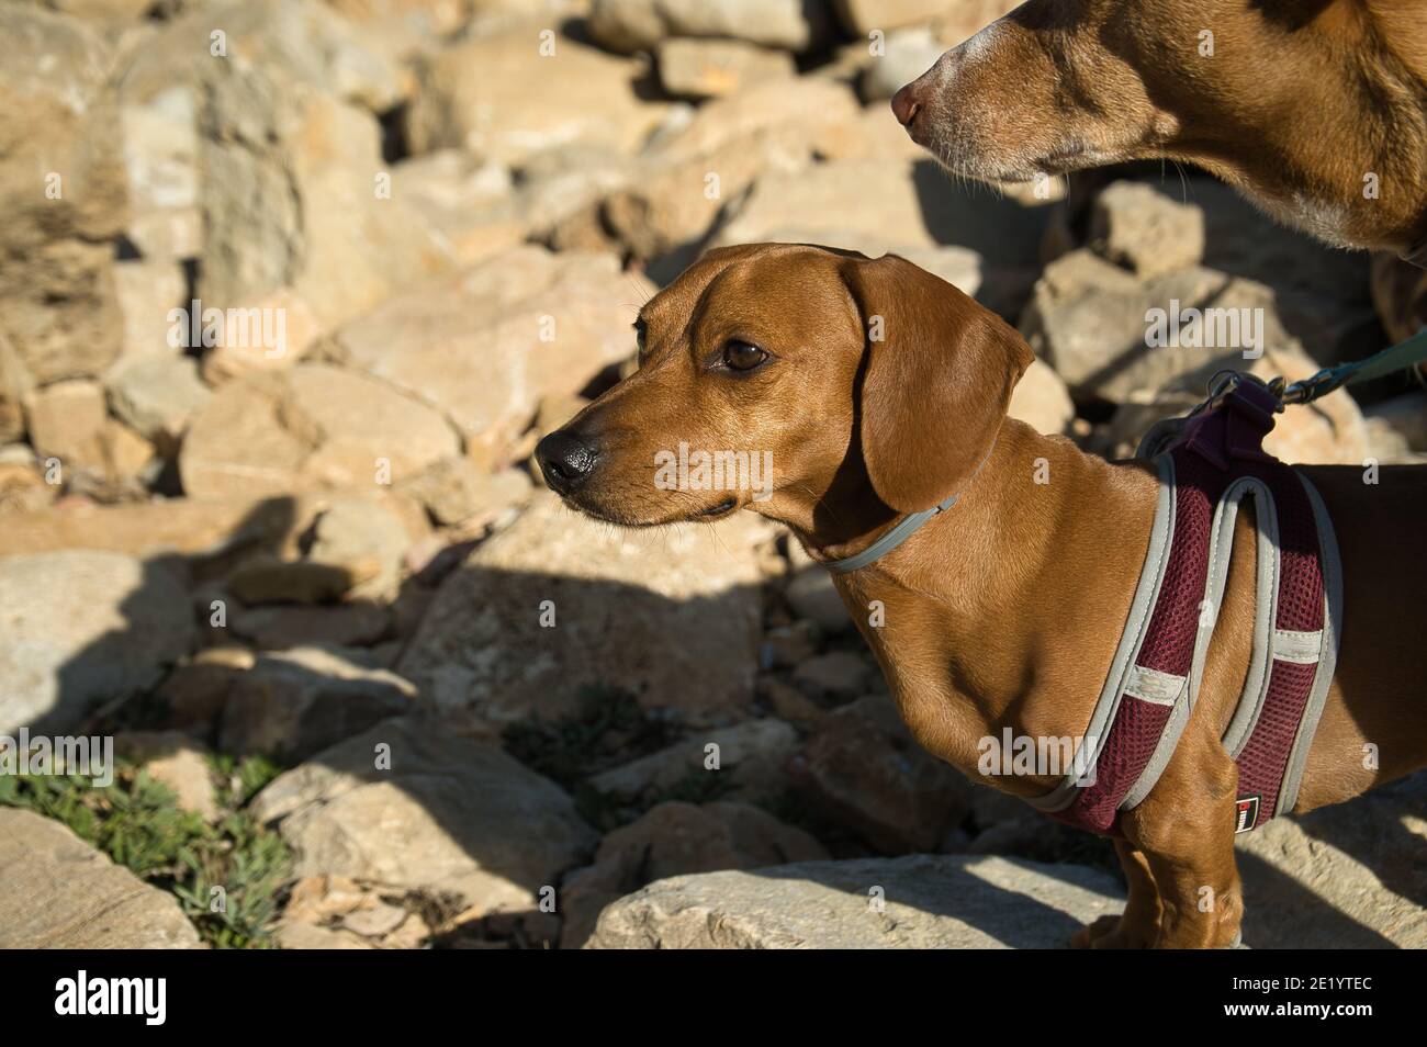
[[[571,143],[632,153],[666,110],[635,93],[641,71],[568,37],[547,46],[528,26],[474,37],[418,67],[408,143],[412,153],[465,148],[505,164]]]

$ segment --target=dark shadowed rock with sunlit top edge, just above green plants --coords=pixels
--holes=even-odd
[[[411,710],[415,688],[385,669],[354,665],[334,650],[294,648],[258,655],[237,675],[218,725],[218,747],[288,762]]]

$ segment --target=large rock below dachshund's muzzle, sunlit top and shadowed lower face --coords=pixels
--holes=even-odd
[[[537,495],[445,581],[400,672],[438,709],[494,720],[568,713],[586,683],[695,717],[745,709],[762,613],[756,528],[739,514],[712,541],[681,526],[651,542]]]

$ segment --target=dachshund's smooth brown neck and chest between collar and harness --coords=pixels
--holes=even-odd
[[[949,512],[835,576],[923,745],[972,775],[983,737],[1085,730],[1149,546],[1156,489],[1143,464],[1112,465],[1007,421]],[[805,545],[835,559],[890,522],[842,543],[813,533]],[[918,669],[903,678],[908,665]],[[958,716],[945,716],[948,700]],[[1035,795],[1055,780],[993,785]]]

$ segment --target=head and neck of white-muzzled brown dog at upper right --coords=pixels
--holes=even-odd
[[[1427,0],[1029,0],[892,108],[973,178],[1183,160],[1427,267]]]

